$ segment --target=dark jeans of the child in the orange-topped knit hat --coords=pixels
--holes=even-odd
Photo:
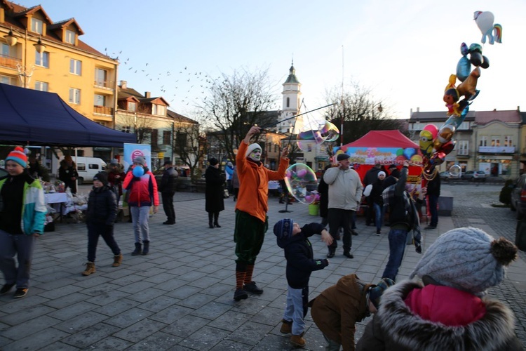
[[[4,273],[6,284],[16,284],[17,289],[29,287],[35,239],[33,235],[9,234],[0,230],[0,270]],[[15,265],[15,255],[18,267]]]

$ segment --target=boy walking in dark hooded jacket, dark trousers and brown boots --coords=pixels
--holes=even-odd
[[[119,267],[122,253],[113,236],[113,225],[117,216],[117,200],[115,192],[109,187],[106,172],[99,172],[93,177],[93,190],[88,197],[86,225],[88,226],[88,263],[82,275],[95,273],[95,251],[99,237],[106,242],[114,254],[112,267]]]

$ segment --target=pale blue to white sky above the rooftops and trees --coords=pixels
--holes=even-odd
[[[447,112],[443,93],[461,43],[482,44],[473,13],[490,11],[503,27],[502,44],[482,44],[490,67],[471,110],[526,111],[525,0],[15,2],[40,4],[54,22],[75,18],[82,41],[119,57],[119,81],[163,96],[187,117],[206,95],[207,79],[243,69],[268,69],[281,109],[292,60],[306,110],[354,83],[395,118],[409,118],[411,109]]]

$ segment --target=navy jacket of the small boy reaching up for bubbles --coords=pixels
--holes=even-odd
[[[311,272],[323,270],[329,265],[328,260],[314,260],[309,237],[321,234],[325,227],[320,223],[306,224],[298,234],[276,239],[278,246],[285,251],[287,259],[287,282],[292,289],[303,289],[309,286]]]

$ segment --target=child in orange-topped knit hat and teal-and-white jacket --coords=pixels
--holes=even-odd
[[[15,147],[6,157],[8,176],[0,180],[0,270],[6,279],[0,295],[16,284],[13,298],[27,294],[34,242],[43,234],[47,213],[42,186],[26,167],[24,150]]]

